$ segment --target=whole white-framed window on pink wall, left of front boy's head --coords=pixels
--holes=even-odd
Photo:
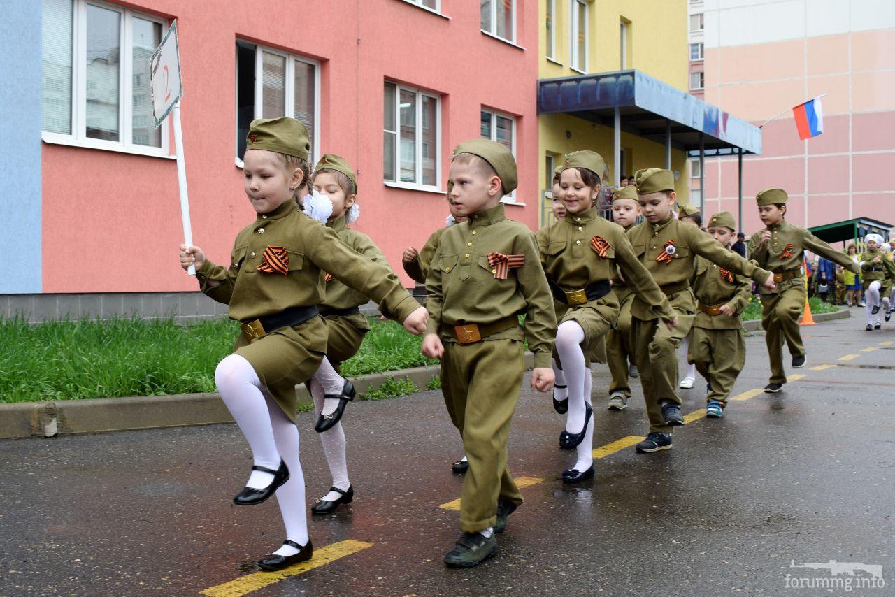
[[[439,188],[440,123],[437,96],[386,81],[382,160],[386,182]]]

